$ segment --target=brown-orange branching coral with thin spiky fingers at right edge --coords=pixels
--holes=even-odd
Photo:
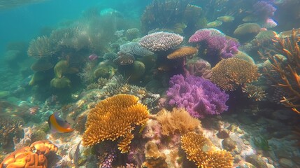
[[[283,97],[280,102],[300,114],[300,36],[297,36],[299,32],[293,30],[291,36],[287,38],[276,37],[274,42],[277,52],[283,54],[286,59],[271,55],[270,52],[269,60],[272,64],[271,71],[276,71],[281,77],[279,80],[272,78],[276,87],[287,91],[287,97]]]

